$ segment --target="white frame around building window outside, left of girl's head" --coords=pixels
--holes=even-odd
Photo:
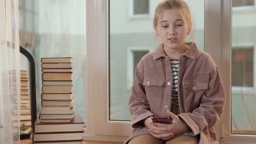
[[[148,0],[148,13],[147,14],[134,14],[134,0],[128,0],[128,11],[130,19],[148,18],[150,16],[150,1]]]

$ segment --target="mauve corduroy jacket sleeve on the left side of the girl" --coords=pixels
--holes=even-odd
[[[140,128],[141,121],[154,114],[150,111],[148,99],[143,85],[144,73],[142,60],[135,69],[135,78],[132,85],[131,96],[129,98],[129,111],[131,114],[132,128]]]

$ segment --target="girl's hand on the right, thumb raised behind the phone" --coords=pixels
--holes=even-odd
[[[181,121],[181,119],[177,115],[174,115],[171,111],[168,111],[168,110],[167,110],[167,114],[173,119],[172,124],[153,123],[152,126],[155,126],[161,130],[167,129],[168,130],[166,131],[167,133],[172,132],[174,135],[182,134],[190,130],[190,127],[185,122]],[[155,131],[151,131],[151,132],[153,134],[158,134],[159,137],[165,137],[166,135],[166,133],[160,134],[160,133],[155,133]]]

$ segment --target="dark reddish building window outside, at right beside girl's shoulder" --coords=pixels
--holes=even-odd
[[[232,86],[253,87],[253,48],[232,49]]]

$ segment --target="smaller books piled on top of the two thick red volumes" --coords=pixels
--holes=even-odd
[[[72,58],[42,58],[42,122],[69,122],[75,107],[72,94]]]

